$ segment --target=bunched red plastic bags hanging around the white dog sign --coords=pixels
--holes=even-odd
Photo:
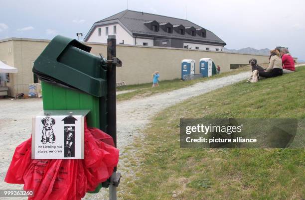
[[[5,182],[34,191],[29,200],[80,200],[106,181],[117,166],[119,150],[111,136],[85,122],[83,160],[32,160],[31,139],[16,147]]]

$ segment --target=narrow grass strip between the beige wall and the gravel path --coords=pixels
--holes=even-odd
[[[138,85],[130,85],[130,86],[123,86],[118,87],[118,91],[126,91],[126,90],[135,90],[129,93],[120,94],[117,96],[117,100],[129,100],[134,97],[148,97],[157,93],[164,93],[169,92],[172,90],[177,90],[180,88],[185,88],[191,85],[194,85],[199,82],[220,78],[228,75],[234,75],[238,74],[240,72],[250,71],[251,68],[249,66],[241,67],[239,69],[230,71],[230,72],[224,72],[219,75],[214,75],[212,77],[205,77],[201,79],[196,80],[190,80],[190,81],[182,81],[180,79],[174,79],[174,80],[167,80],[167,81],[160,81],[159,87],[152,88],[152,83],[147,84],[138,84]]]

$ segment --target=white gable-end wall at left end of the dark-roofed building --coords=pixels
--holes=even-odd
[[[117,26],[117,34],[113,33],[113,26]],[[117,44],[122,43],[123,40],[124,44],[135,44],[135,39],[119,23],[97,26],[88,38],[88,42],[107,43],[106,27],[108,27],[108,35],[116,35]],[[99,28],[101,28],[100,36]]]

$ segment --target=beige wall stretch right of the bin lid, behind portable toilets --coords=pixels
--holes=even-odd
[[[92,47],[93,54],[106,55],[106,44],[86,44]],[[199,73],[200,58],[213,59],[222,72],[230,71],[230,64],[249,64],[251,58],[256,58],[259,63],[269,62],[269,56],[133,45],[118,45],[117,56],[123,62],[123,67],[117,68],[117,81],[124,80],[128,85],[151,82],[154,71],[160,72],[160,80],[181,78],[183,59],[196,61],[195,73]]]

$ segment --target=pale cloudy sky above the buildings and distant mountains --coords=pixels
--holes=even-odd
[[[127,9],[127,0],[0,0],[0,39],[84,36],[98,20]],[[129,0],[129,9],[185,18],[229,49],[287,46],[305,60],[305,0]],[[83,38],[82,38],[83,39]]]

